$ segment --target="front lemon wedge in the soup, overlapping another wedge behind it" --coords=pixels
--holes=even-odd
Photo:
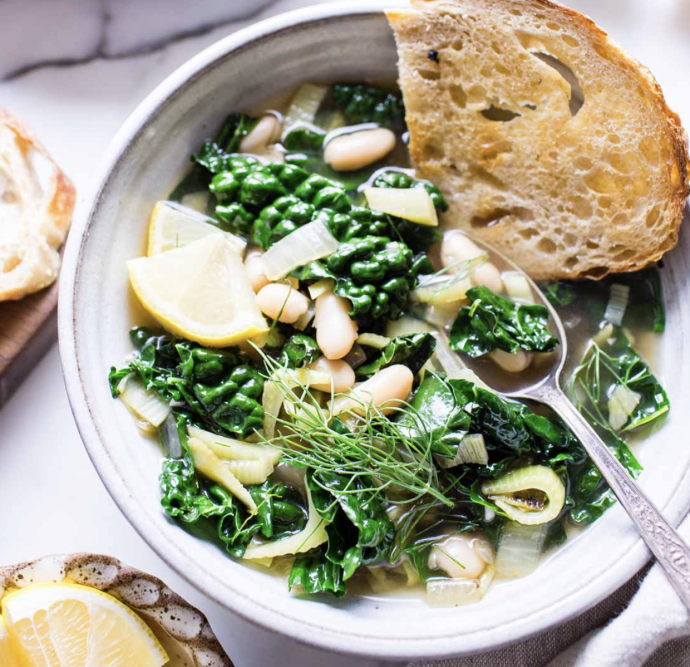
[[[144,308],[178,336],[224,347],[268,330],[242,258],[221,234],[127,267]]]

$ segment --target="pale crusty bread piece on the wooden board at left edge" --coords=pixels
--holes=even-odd
[[[57,278],[74,200],[69,179],[33,134],[0,109],[0,301]]]

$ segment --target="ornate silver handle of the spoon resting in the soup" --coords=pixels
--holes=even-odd
[[[637,525],[640,536],[664,568],[676,593],[690,610],[690,548],[686,542],[559,387],[542,385],[532,393],[531,398],[549,405],[571,428]]]

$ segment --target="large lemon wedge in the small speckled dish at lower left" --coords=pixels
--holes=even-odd
[[[161,667],[168,655],[149,627],[107,593],[38,584],[2,601],[22,667]]]

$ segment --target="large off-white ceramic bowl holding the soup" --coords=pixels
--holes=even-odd
[[[648,553],[619,507],[569,542],[535,574],[492,587],[479,604],[431,609],[421,599],[302,600],[285,582],[234,562],[169,521],[159,504],[161,452],[113,401],[106,376],[131,351],[137,310],[125,261],[141,254],[153,202],[223,116],[304,80],[395,76],[381,12],[391,3],[329,4],[279,16],[207,49],[162,83],[114,139],[88,215],[70,234],[60,286],[60,345],[79,430],[105,485],[141,536],[191,583],[228,609],[299,641],[389,659],[441,658],[496,648],[572,617],[610,594]],[[684,378],[687,235],[665,260],[663,380],[673,409],[638,453],[642,486],[673,521],[690,503],[690,414]]]

